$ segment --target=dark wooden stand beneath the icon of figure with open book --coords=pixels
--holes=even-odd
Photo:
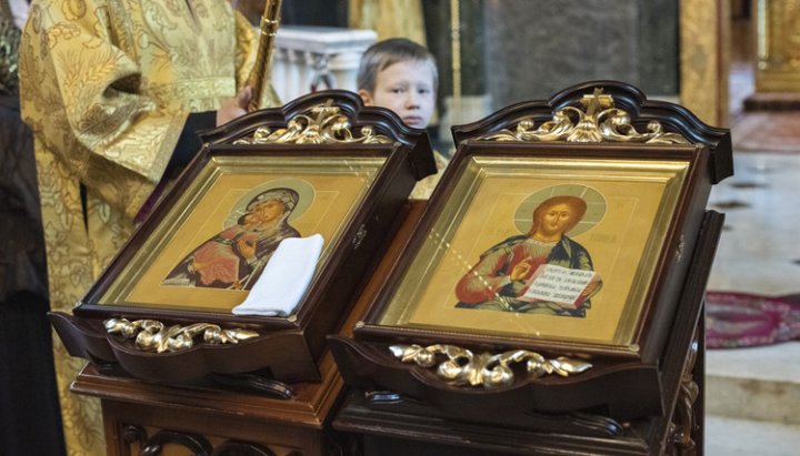
[[[671,387],[666,391],[661,416],[616,422],[590,413],[520,415],[509,411],[503,423],[492,426],[466,420],[486,412],[470,409],[468,402],[463,404],[464,420],[459,420],[392,392],[356,388],[338,409],[333,428],[359,439],[364,456],[702,455],[702,304],[723,219],[716,212],[706,215],[678,311],[682,323],[672,328],[663,357],[663,384]]]

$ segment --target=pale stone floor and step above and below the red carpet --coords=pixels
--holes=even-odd
[[[732,64],[736,175],[711,194],[709,205],[726,213],[726,229],[709,290],[796,294],[800,293],[800,111],[744,112],[741,103],[753,90],[750,65],[742,60]],[[799,366],[800,342],[708,351],[706,455],[800,454]]]

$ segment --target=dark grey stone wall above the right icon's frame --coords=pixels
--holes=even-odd
[[[676,0],[487,0],[487,89],[493,109],[593,79],[678,93]]]

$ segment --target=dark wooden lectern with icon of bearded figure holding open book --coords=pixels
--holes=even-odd
[[[593,81],[453,128],[373,277],[333,427],[366,454],[692,453],[729,132]]]

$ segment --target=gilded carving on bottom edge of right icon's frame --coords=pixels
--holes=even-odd
[[[511,365],[524,363],[529,378],[558,374],[563,377],[579,374],[592,367],[582,359],[559,356],[547,359],[544,356],[526,349],[516,349],[498,354],[478,353],[456,345],[392,345],[389,347],[394,357],[403,363],[416,363],[421,367],[437,366],[437,375],[458,386],[484,386],[487,388],[506,386],[514,382]],[[442,356],[444,355],[443,361]],[[437,364],[438,363],[438,364]]]

